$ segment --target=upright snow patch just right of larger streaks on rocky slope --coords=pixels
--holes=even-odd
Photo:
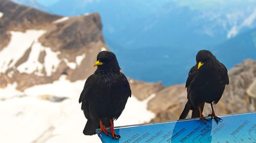
[[[58,59],[58,54],[60,54],[60,51],[54,52],[51,48],[46,47],[46,56],[45,56],[45,69],[46,69],[46,75],[51,76],[52,72],[56,72],[58,65],[60,63],[60,60]]]

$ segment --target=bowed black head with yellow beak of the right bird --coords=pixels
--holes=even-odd
[[[202,67],[204,64],[207,64],[212,59],[216,59],[215,56],[208,50],[200,50],[197,53],[196,61],[197,61],[197,69]]]

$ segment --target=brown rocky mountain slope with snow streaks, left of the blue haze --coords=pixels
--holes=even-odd
[[[61,74],[71,81],[95,70],[101,50],[108,50],[97,13],[61,17],[0,1],[0,87],[18,90],[51,83]]]

